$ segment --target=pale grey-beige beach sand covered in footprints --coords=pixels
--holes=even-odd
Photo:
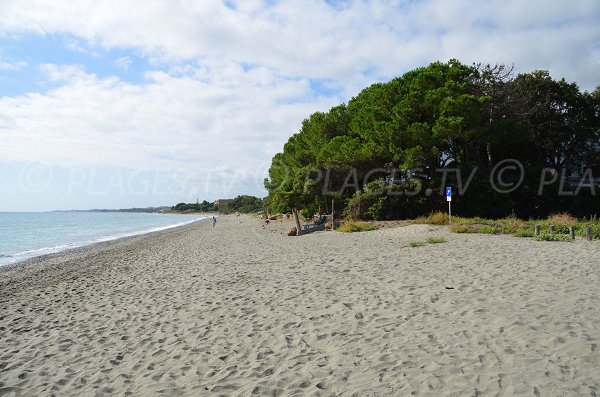
[[[600,395],[600,242],[289,227],[4,269],[0,395]]]

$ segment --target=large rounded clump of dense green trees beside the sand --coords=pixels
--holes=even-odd
[[[407,218],[443,209],[450,185],[461,215],[600,213],[600,192],[564,183],[598,165],[599,120],[600,87],[581,92],[545,71],[515,77],[504,65],[432,63],[305,119],[273,157],[265,204],[329,211],[334,198],[353,218]]]

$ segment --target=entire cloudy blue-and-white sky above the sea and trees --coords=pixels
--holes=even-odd
[[[0,211],[265,196],[316,111],[434,61],[600,84],[600,1],[2,0]]]

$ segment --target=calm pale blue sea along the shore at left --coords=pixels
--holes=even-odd
[[[137,212],[0,212],[0,266],[206,219]]]

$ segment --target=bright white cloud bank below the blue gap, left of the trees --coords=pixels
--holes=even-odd
[[[44,65],[64,82],[46,94],[1,98],[0,156],[69,166],[168,171],[253,169],[279,150],[323,99],[305,80],[264,68],[204,65],[194,75],[147,75],[133,85],[81,67]]]

